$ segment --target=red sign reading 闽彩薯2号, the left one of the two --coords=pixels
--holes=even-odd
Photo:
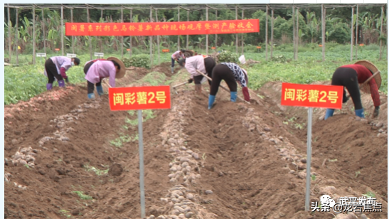
[[[170,86],[109,89],[111,110],[170,109]]]

